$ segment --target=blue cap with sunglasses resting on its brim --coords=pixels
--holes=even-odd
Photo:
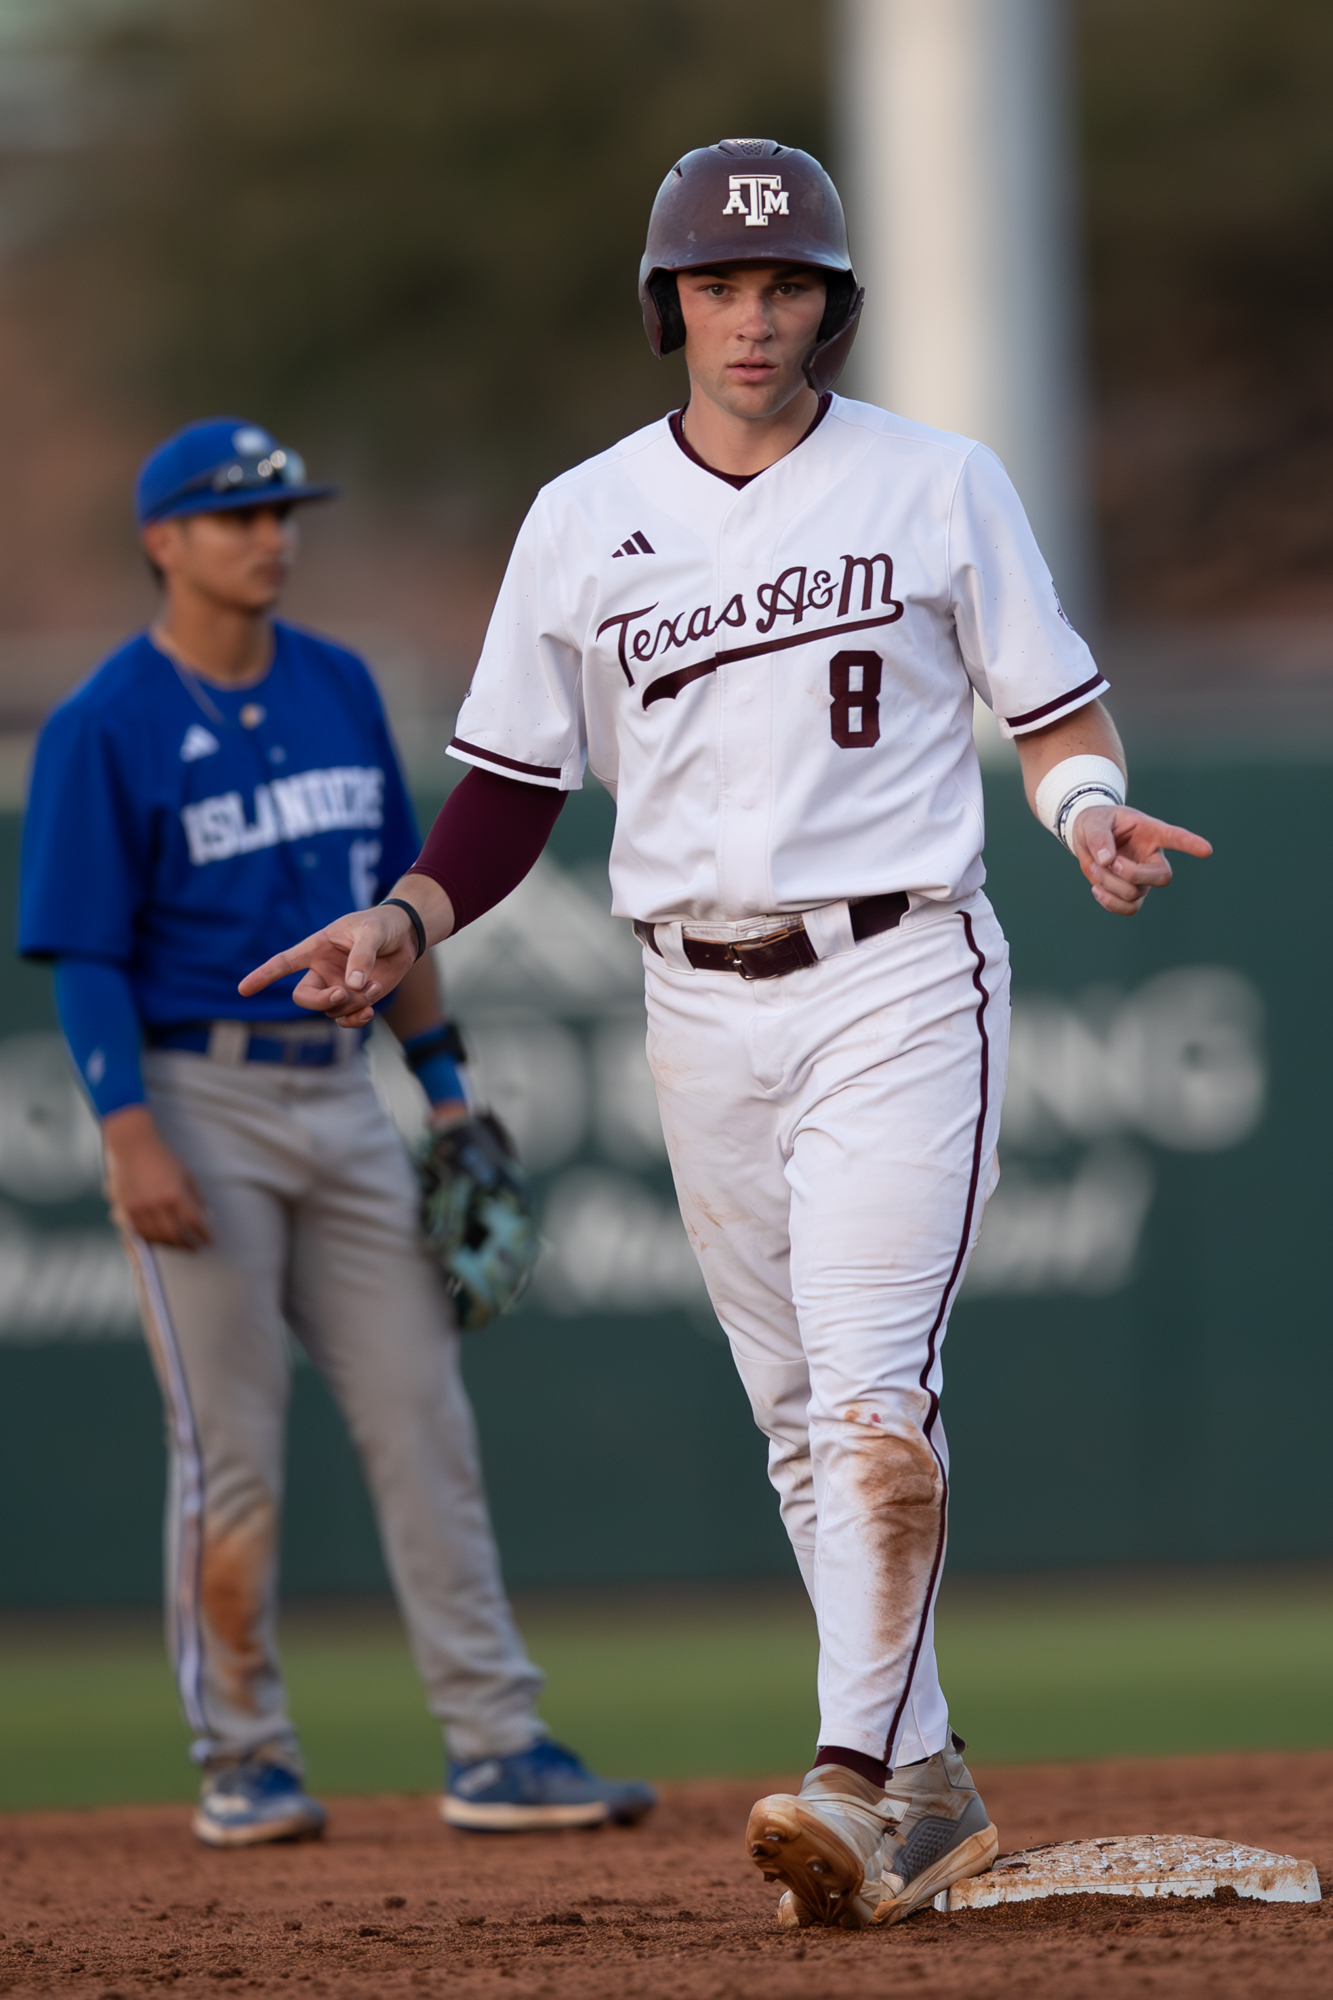
[[[312,486],[300,452],[244,416],[186,424],[138,468],[138,524],[178,514],[222,514],[238,506],[330,500],[336,486]]]

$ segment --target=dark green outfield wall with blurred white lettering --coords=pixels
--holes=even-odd
[[[1137,760],[1209,864],[1103,916],[989,780],[1015,964],[1003,1180],[945,1348],[961,1570],[1333,1554],[1325,1260],[1333,948],[1323,766]],[[444,948],[478,1068],[532,1162],[532,1294],[468,1342],[510,1584],[791,1568],[763,1446],[685,1244],[642,1060],[638,954],[606,914],[610,804]],[[12,896],[16,820],[0,822]],[[412,1090],[384,1058],[404,1126]],[[162,1422],[96,1194],[48,974],[0,990],[0,1602],[158,1588]],[[382,1588],[342,1422],[294,1368],[288,1592]]]

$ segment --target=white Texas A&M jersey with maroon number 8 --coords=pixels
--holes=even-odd
[[[835,396],[747,486],[669,420],[546,486],[452,754],[616,798],[616,916],[971,894],[973,690],[1005,734],[1105,692],[1005,468]]]

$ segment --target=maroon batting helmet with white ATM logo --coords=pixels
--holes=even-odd
[[[851,266],[839,190],[819,160],[775,138],[723,138],[677,160],[656,190],[638,266],[642,326],[654,354],[685,346],[677,272],[707,264],[823,270],[829,296],[805,378],[821,394],[833,388],[857,338],[865,292]]]

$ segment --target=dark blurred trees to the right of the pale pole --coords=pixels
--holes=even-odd
[[[1079,0],[1109,608],[1333,608],[1333,8]]]

